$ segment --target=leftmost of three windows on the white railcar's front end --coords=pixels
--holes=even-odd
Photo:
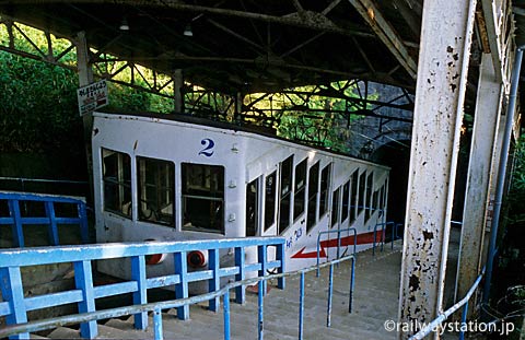
[[[126,153],[102,149],[104,210],[131,219],[131,159]]]

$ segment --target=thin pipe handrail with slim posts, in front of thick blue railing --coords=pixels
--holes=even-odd
[[[218,291],[192,296],[192,297],[170,300],[170,301],[155,302],[155,303],[147,303],[147,304],[140,304],[140,305],[133,305],[133,306],[126,306],[126,307],[116,307],[116,308],[109,308],[109,309],[97,310],[97,312],[81,313],[74,316],[60,316],[60,317],[54,317],[54,318],[48,318],[48,319],[43,319],[37,321],[30,321],[21,325],[10,325],[0,329],[0,338],[13,336],[13,335],[46,330],[46,329],[51,329],[60,326],[79,324],[79,323],[90,323],[94,320],[115,318],[115,317],[120,317],[125,315],[133,315],[133,314],[137,315],[137,314],[143,314],[148,312],[154,312],[153,314],[154,339],[162,340],[163,339],[162,316],[161,316],[162,309],[180,308],[189,304],[197,304],[200,302],[210,301],[210,300],[223,296],[223,305],[224,305],[223,310],[224,310],[224,320],[225,320],[224,321],[224,339],[229,340],[230,339],[230,308],[229,308],[230,290],[237,289],[244,285],[252,285],[255,283],[259,283],[260,281],[265,282],[267,280],[272,280],[272,279],[283,279],[283,278],[292,277],[296,274],[301,274],[301,278],[303,281],[304,273],[316,270],[317,268],[325,268],[328,266],[330,267],[330,272],[329,272],[330,277],[329,277],[329,290],[328,290],[329,294],[328,294],[328,309],[327,309],[327,327],[330,327],[331,294],[332,294],[331,282],[332,282],[334,265],[342,261],[347,261],[349,259],[352,260],[352,271],[350,277],[350,292],[349,292],[349,313],[351,313],[352,303],[353,303],[354,270],[355,270],[355,257],[353,255],[349,255],[340,259],[335,259],[329,262],[325,262],[320,266],[312,266],[305,269],[295,270],[291,272],[282,272],[277,274],[269,274],[266,277],[257,277],[257,278],[245,279],[242,281],[231,282]],[[261,304],[262,295],[264,295],[262,286],[264,284],[258,285],[259,308],[262,306]],[[300,296],[300,301],[301,301],[301,304],[304,303],[304,291]],[[303,315],[300,313],[300,318],[302,318],[302,316]],[[258,323],[259,339],[262,339],[262,335],[264,335],[264,323],[261,318],[262,318],[262,313],[260,313],[260,309],[259,309],[259,323]],[[302,319],[300,319],[300,325],[302,325]],[[302,332],[300,329],[300,339],[302,339],[301,335]]]

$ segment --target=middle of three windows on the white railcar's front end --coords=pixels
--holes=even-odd
[[[175,165],[172,162],[137,157],[139,220],[174,225]]]

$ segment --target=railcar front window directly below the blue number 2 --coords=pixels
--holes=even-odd
[[[224,234],[224,167],[182,163],[183,230]]]

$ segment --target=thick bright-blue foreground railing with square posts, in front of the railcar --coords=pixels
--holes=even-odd
[[[255,263],[245,262],[247,247],[257,247],[258,259]],[[267,248],[276,247],[276,260],[268,260]],[[231,267],[220,267],[219,261],[210,260],[208,268],[201,271],[187,271],[187,254],[191,250],[208,251],[209,258],[218,257],[219,251],[234,249],[235,263]],[[173,272],[162,277],[148,278],[145,256],[154,254],[173,255]],[[128,266],[131,280],[119,283],[93,285],[92,261],[108,259],[129,259],[121,261],[122,267]],[[167,260],[167,259],[166,259]],[[21,267],[50,263],[72,262],[74,268],[75,289],[38,296],[24,296]],[[246,279],[246,273],[258,272],[264,277],[267,270],[277,268],[278,273],[284,272],[284,238],[282,237],[250,237],[213,241],[188,242],[144,242],[118,243],[79,246],[36,247],[26,249],[7,249],[0,255],[0,289],[4,302],[0,303],[0,316],[5,316],[8,325],[27,323],[27,312],[54,306],[77,303],[80,314],[94,313],[95,300],[119,294],[131,293],[135,304],[147,302],[149,289],[175,286],[176,298],[188,298],[188,284],[196,281],[208,281],[209,290],[220,289],[223,277],[234,275],[237,281]],[[266,282],[266,281],[264,281]],[[264,284],[262,284],[264,285]],[[284,288],[282,278],[278,288]],[[266,292],[266,290],[265,290]],[[245,289],[243,285],[235,288],[235,300],[244,303]],[[219,308],[219,295],[209,300],[210,309]],[[135,309],[133,309],[135,310]],[[135,314],[135,327],[145,329],[148,316],[145,312]],[[177,317],[189,317],[189,305],[177,305]],[[74,318],[74,317],[72,317]],[[81,337],[93,339],[97,335],[95,319],[81,324]],[[22,333],[15,339],[27,339],[27,333]]]

